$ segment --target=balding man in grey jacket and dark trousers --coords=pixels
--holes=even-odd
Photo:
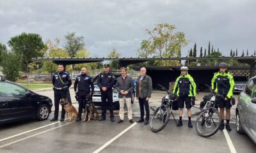
[[[136,83],[136,98],[140,103],[140,119],[136,122],[144,122],[144,107],[146,110],[146,118],[144,125],[148,124],[149,120],[149,106],[148,100],[151,98],[152,93],[152,79],[148,75],[146,75],[146,68],[140,69],[140,77],[137,79]]]

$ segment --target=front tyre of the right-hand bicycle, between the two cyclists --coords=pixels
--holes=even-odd
[[[196,128],[196,133],[198,133],[198,135],[200,135],[200,136],[202,136],[202,137],[205,137],[205,138],[214,135],[214,134],[220,129],[220,124],[221,124],[220,112],[218,112],[218,110],[211,109],[211,111],[212,111],[213,113],[216,113],[216,115],[218,116],[218,120],[220,120],[220,121],[218,122],[216,128],[215,128],[211,133],[202,133],[202,131],[199,130],[199,127],[198,127],[198,126],[204,126],[206,123],[205,123],[205,120],[204,120],[204,125],[201,125],[199,120],[200,120],[200,118],[202,117],[202,115],[204,115],[207,111],[208,111],[208,110],[204,110],[204,111],[202,111],[202,112],[198,115],[198,117],[197,117],[197,119],[196,119],[196,126],[195,126],[195,128]],[[212,117],[211,117],[211,119],[212,119]],[[214,123],[214,124],[215,124],[215,123]]]

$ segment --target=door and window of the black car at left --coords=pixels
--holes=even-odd
[[[1,119],[16,119],[31,115],[31,98],[26,96],[26,89],[10,82],[0,82]]]

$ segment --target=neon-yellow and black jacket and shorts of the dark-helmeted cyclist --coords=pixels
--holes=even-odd
[[[221,94],[224,98],[218,98],[219,107],[227,108],[228,110],[231,108],[230,99],[233,96],[234,89],[234,78],[230,73],[216,73],[212,78],[212,89],[218,94]],[[225,101],[227,98],[227,101]]]

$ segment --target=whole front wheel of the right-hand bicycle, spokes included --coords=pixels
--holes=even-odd
[[[203,137],[214,135],[220,128],[220,112],[215,109],[204,110],[196,119],[196,132]]]

